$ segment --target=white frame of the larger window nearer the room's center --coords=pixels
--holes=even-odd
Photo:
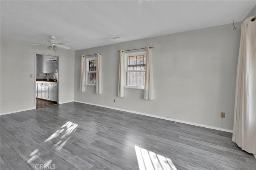
[[[142,70],[128,70],[128,57],[130,56],[136,56],[136,55],[147,55],[146,50],[141,50],[141,51],[136,51],[136,52],[126,52],[124,55],[124,88],[125,89],[140,89],[140,90],[144,90],[145,86],[128,86],[126,85],[126,75],[127,72],[146,72],[142,71]],[[146,59],[147,62],[147,59]]]

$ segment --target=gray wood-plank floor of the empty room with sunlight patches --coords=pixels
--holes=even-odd
[[[82,103],[3,115],[1,170],[255,170],[232,134]]]

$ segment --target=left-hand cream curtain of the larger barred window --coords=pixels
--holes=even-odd
[[[120,50],[118,97],[124,97],[124,51]]]

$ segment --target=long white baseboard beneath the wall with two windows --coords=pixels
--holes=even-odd
[[[155,117],[155,118],[164,119],[164,120],[168,120],[168,121],[185,123],[185,124],[188,124],[188,125],[194,125],[194,126],[198,126],[198,127],[211,128],[211,129],[215,129],[215,130],[221,130],[221,131],[224,131],[224,132],[230,132],[230,133],[233,132],[233,130],[230,130],[230,129],[212,127],[212,126],[208,126],[208,125],[202,125],[202,124],[182,121],[182,120],[178,120],[178,119],[171,119],[171,118],[168,118],[168,117],[162,117],[162,116],[157,116],[157,115],[150,115],[150,114],[147,114],[147,113],[140,113],[140,112],[136,112],[136,111],[129,111],[129,110],[126,110],[126,109],[119,109],[119,108],[116,108],[116,107],[97,105],[97,104],[87,103],[87,102],[82,102],[82,101],[74,101],[74,102],[84,103],[84,104],[94,105],[94,106],[100,106],[100,107],[105,107],[105,108],[108,108],[108,109],[114,109],[114,110],[118,110],[118,111],[125,111],[125,112],[135,113],[135,114],[139,114],[139,115],[149,116],[149,117]]]

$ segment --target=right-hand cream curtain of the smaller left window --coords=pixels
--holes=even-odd
[[[101,68],[101,53],[96,53],[96,94],[102,93],[102,68]]]

